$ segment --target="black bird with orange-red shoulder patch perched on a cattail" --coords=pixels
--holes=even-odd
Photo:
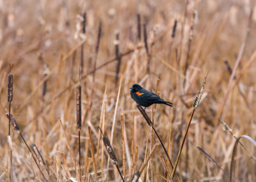
[[[170,107],[173,105],[172,103],[161,99],[160,96],[156,95],[155,93],[143,89],[143,87],[138,84],[133,84],[130,89],[133,100],[143,107],[148,107],[153,103],[163,103],[165,105],[169,105]]]

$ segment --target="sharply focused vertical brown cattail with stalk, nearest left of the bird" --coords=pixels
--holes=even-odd
[[[80,132],[82,127],[82,118],[81,118],[81,85],[78,84],[76,86],[76,121],[77,121],[77,129],[78,129],[78,144],[79,144],[79,181],[82,180],[81,175],[81,140],[80,140]]]

